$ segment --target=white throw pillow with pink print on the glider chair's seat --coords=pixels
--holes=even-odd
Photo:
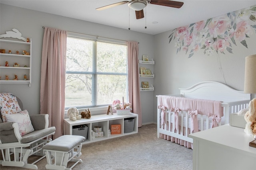
[[[6,114],[5,119],[6,119],[6,122],[18,123],[21,136],[26,135],[35,130],[31,123],[27,110],[21,111],[19,113],[14,113],[14,114]]]

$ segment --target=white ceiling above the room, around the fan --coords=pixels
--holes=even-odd
[[[145,17],[140,20],[136,20],[128,4],[95,10],[121,1],[124,0],[0,0],[0,3],[123,29],[128,29],[130,23],[130,30],[152,35],[256,5],[256,0],[177,0],[184,2],[181,8],[148,4]]]

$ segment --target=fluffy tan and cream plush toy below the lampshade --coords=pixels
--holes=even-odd
[[[247,122],[244,132],[250,136],[256,135],[256,98],[249,102],[249,110],[245,113],[244,119]]]

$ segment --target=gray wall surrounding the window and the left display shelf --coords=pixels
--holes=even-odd
[[[0,92],[11,92],[18,96],[24,109],[30,114],[40,113],[40,72],[42,57],[42,41],[45,27],[53,27],[66,31],[98,35],[112,39],[139,42],[139,57],[154,55],[154,36],[126,29],[119,29],[97,23],[75,20],[43,12],[27,10],[1,4],[0,34],[18,29],[23,37],[32,38],[32,84],[0,84]],[[152,68],[153,69],[153,68]],[[153,92],[141,93],[142,123],[153,121]],[[121,99],[120,99],[121,100]]]

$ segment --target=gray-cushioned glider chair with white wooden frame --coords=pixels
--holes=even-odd
[[[20,109],[22,102],[17,98]],[[1,116],[0,116],[1,117]],[[2,153],[2,166],[16,166],[22,168],[38,169],[36,162],[42,160],[45,154],[42,147],[52,141],[48,136],[55,133],[55,127],[49,126],[49,115],[29,115],[34,131],[21,136],[17,122],[4,122],[0,118],[0,150]],[[38,160],[28,164],[28,157],[38,155]]]

